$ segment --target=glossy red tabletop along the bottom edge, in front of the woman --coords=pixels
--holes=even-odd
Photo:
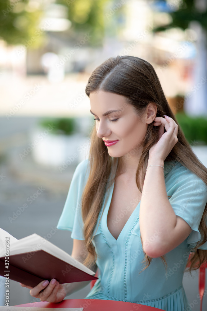
[[[133,302],[123,302],[116,300],[99,299],[65,299],[59,303],[33,302],[30,304],[18,304],[15,307],[36,307],[36,308],[83,308],[83,311],[163,311],[161,309],[148,307],[143,304],[134,304]]]

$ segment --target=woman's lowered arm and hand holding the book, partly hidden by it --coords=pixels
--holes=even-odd
[[[87,257],[87,254],[88,251],[85,248],[85,241],[73,239],[73,250],[71,256],[79,262],[83,263],[84,259]],[[93,266],[89,267],[89,269],[96,272],[96,263]],[[85,287],[90,283],[90,281],[60,284],[55,279],[52,279],[49,284],[48,281],[46,284],[45,283],[46,281],[42,281],[35,287],[30,287],[24,284],[21,284],[21,286],[31,289],[29,292],[30,295],[35,298],[39,298],[41,301],[57,303],[61,302],[65,298],[65,296],[70,295],[77,290]]]

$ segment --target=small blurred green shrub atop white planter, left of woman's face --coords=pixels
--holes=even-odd
[[[75,118],[43,119],[39,124],[43,128],[47,128],[48,124],[52,124],[54,127],[51,131],[52,134],[71,135],[76,132]]]

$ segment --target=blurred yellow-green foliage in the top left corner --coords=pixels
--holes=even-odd
[[[42,36],[35,32],[41,16],[42,11],[31,7],[29,0],[0,1],[0,37],[7,44],[26,44],[34,36],[33,47],[38,47]]]

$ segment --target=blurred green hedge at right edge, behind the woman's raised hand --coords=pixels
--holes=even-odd
[[[177,113],[176,118],[190,145],[207,145],[207,118]]]

